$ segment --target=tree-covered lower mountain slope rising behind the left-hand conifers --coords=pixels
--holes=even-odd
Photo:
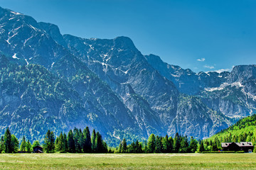
[[[92,125],[78,93],[43,67],[7,64],[0,73],[2,134],[9,126],[18,138],[26,135],[30,140],[42,140],[48,129],[59,133]]]

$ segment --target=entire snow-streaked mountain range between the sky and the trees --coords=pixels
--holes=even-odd
[[[143,55],[130,38],[62,35],[0,7],[0,132],[94,128],[108,144],[176,132],[198,139],[256,113],[256,65],[192,72]]]

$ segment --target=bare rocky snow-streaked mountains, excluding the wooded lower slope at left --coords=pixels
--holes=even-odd
[[[234,67],[234,72],[196,74],[155,55],[142,55],[130,38],[61,35],[54,24],[35,23],[4,8],[0,8],[0,41],[0,52],[9,60],[26,67],[39,64],[78,93],[77,101],[85,111],[82,120],[109,141],[176,132],[201,139],[227,128],[233,117],[256,111],[255,65]],[[241,86],[235,84],[237,80]],[[220,93],[223,90],[226,93]],[[234,96],[240,96],[239,102]],[[234,109],[226,111],[227,106]],[[6,114],[0,113],[0,117]],[[80,122],[78,113],[70,114]]]

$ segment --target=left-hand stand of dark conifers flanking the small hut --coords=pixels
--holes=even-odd
[[[23,136],[19,147],[18,139],[15,135],[11,135],[9,128],[6,129],[0,140],[0,153],[17,153],[33,152],[33,147],[41,146],[41,143],[36,140],[31,145],[29,140]],[[74,128],[68,132],[60,132],[60,135],[55,138],[54,132],[48,130],[43,140],[43,152],[46,153],[107,153],[107,143],[102,139],[100,132],[90,130],[86,127],[84,130]]]

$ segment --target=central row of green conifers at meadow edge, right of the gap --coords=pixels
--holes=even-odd
[[[191,137],[188,140],[187,136],[178,135],[175,137],[155,136],[151,134],[145,142],[132,142],[127,145],[125,139],[120,142],[119,147],[114,149],[115,153],[189,153],[196,152],[198,149],[198,141]]]

